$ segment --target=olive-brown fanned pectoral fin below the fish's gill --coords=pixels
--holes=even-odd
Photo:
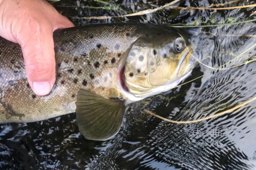
[[[87,90],[79,90],[76,102],[76,121],[87,139],[107,140],[120,130],[124,102],[106,99]]]

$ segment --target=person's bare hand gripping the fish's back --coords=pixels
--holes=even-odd
[[[0,0],[0,36],[22,47],[28,82],[37,95],[55,82],[53,32],[73,27],[44,0]]]

